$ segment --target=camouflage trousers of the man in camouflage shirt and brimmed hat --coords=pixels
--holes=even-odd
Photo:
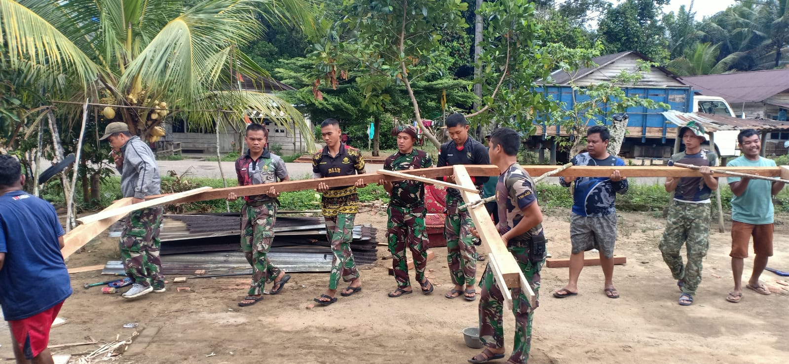
[[[392,254],[392,269],[398,288],[410,285],[406,247],[411,251],[413,266],[417,270],[417,282],[424,280],[424,268],[428,265],[428,231],[424,227],[424,206],[406,208],[389,205],[387,239]]]

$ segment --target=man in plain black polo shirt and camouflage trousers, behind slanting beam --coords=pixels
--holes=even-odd
[[[439,151],[438,166],[446,165],[489,165],[488,149],[469,137],[469,122],[461,113],[447,117],[447,132],[452,140],[444,143]],[[477,189],[488,181],[487,176],[471,177]],[[454,176],[447,176],[454,183]],[[447,262],[454,288],[447,299],[464,294],[469,301],[477,299],[474,281],[477,276],[477,248],[479,240],[471,235],[473,222],[468,211],[458,210],[463,204],[460,191],[447,188],[447,219],[444,222],[444,237],[447,239]],[[465,290],[463,288],[466,288]]]

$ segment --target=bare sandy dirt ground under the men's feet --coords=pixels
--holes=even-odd
[[[569,217],[565,210],[548,213],[544,227],[555,258],[569,256]],[[383,214],[366,213],[357,223],[380,226]],[[620,214],[617,254],[627,264],[616,266],[615,285],[622,297],[608,299],[599,267],[581,273],[578,296],[554,299],[551,292],[567,282],[567,269],[542,271],[540,308],[534,318],[530,363],[786,363],[789,362],[787,295],[757,295],[746,290],[742,302],[727,303],[731,291],[728,257],[730,236],[713,228],[694,306],[677,305],[679,291],[665,266],[657,243],[664,219],[653,214]],[[789,270],[789,226],[776,218],[775,256],[770,266]],[[117,258],[117,242],[103,235],[88,252],[75,254],[69,267],[103,264]],[[127,322],[144,328],[120,362],[136,363],[443,363],[466,362],[477,349],[466,347],[461,330],[477,325],[477,303],[445,299],[451,288],[446,248],[434,248],[428,262],[436,292],[388,298],[394,278],[387,275],[389,260],[361,271],[364,290],[338,297],[327,307],[308,310],[312,298],[323,293],[328,274],[295,273],[279,295],[266,296],[251,307],[239,307],[248,279],[189,280],[180,286],[194,293],[167,292],[127,301],[103,295],[100,288],[82,285],[104,280],[98,272],[72,275],[74,294],[63,306],[68,322],[52,329],[50,344],[128,337]],[[379,255],[387,255],[380,247]],[[746,261],[750,273],[751,261]],[[477,277],[484,269],[480,262]],[[412,273],[413,274],[413,273]],[[713,274],[715,276],[713,276]],[[718,276],[718,277],[716,277]],[[413,276],[412,276],[413,277]],[[765,273],[763,280],[780,277]],[[173,277],[169,277],[170,279]],[[440,284],[440,286],[439,286]],[[35,289],[46,289],[46,285]],[[507,350],[514,329],[505,313]],[[5,325],[5,322],[3,322]],[[13,358],[7,329],[0,330],[0,358]],[[55,354],[80,354],[98,345],[54,349]],[[213,355],[212,355],[213,354]],[[211,355],[211,356],[209,356]]]

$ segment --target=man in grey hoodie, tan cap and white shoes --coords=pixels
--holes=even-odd
[[[129,126],[122,122],[107,125],[101,139],[108,139],[112,147],[115,166],[121,173],[123,197],[131,197],[132,203],[137,203],[150,195],[159,195],[159,166],[148,144],[139,136],[132,136]],[[125,299],[165,291],[159,259],[163,210],[162,206],[136,210],[125,219],[120,241],[121,258],[126,274],[134,282],[122,295]]]

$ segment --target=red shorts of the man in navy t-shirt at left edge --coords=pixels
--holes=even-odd
[[[32,360],[47,348],[52,322],[58,317],[63,302],[61,301],[49,310],[29,318],[8,321],[13,338],[17,341],[19,349],[24,353],[24,358]]]

